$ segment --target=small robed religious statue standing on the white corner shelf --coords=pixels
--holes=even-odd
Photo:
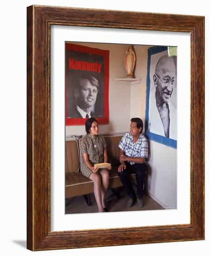
[[[133,69],[136,63],[136,55],[130,46],[125,53],[124,67],[127,72],[126,78],[134,78]]]

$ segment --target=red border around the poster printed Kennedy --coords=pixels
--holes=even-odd
[[[104,56],[104,117],[96,118],[98,124],[108,124],[109,123],[109,50],[101,50],[98,48],[92,48],[77,44],[72,44],[66,42],[65,44],[66,50],[72,50],[75,52],[82,52],[88,54],[97,54]],[[66,76],[66,68],[65,68],[65,76]],[[67,81],[65,79],[65,119],[66,126],[71,125],[84,125],[86,118],[67,118]]]

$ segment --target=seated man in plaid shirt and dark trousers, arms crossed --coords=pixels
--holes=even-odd
[[[145,179],[145,158],[148,155],[147,139],[142,135],[143,121],[138,118],[131,118],[130,133],[126,133],[119,142],[118,175],[129,196],[127,207],[131,207],[136,201],[136,194],[129,179],[130,173],[136,174],[137,202],[140,208],[144,207],[142,190]]]

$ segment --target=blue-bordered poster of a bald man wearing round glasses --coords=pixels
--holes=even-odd
[[[148,49],[145,133],[177,148],[177,51],[170,48]]]

